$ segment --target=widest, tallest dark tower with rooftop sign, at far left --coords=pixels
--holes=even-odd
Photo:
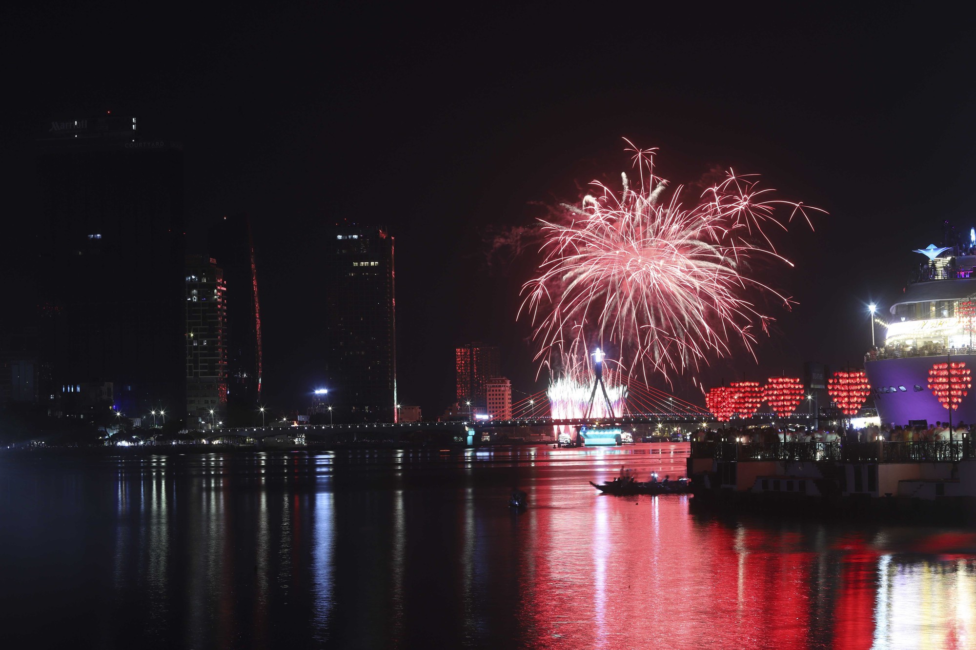
[[[141,139],[135,117],[56,121],[46,132],[39,351],[50,386],[40,394],[111,384],[127,415],[182,411],[183,152]]]

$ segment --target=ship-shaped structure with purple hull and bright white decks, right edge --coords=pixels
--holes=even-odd
[[[949,420],[949,410],[928,388],[933,364],[964,362],[976,374],[976,231],[970,233],[973,246],[915,251],[924,257],[891,305],[884,342],[865,357],[882,424]],[[952,422],[976,423],[976,394],[962,398]]]

